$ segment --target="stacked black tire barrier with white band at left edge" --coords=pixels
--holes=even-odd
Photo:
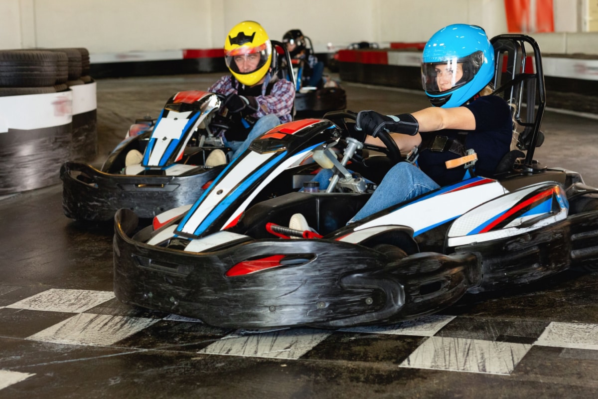
[[[0,195],[58,184],[97,154],[96,83],[86,48],[0,50]]]

